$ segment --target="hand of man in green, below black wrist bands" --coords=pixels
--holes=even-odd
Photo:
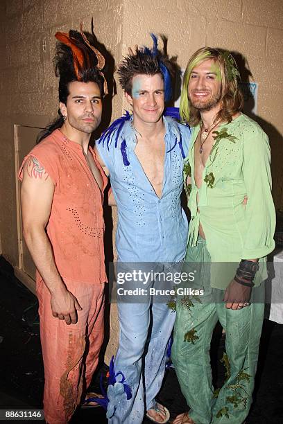
[[[251,287],[241,285],[233,279],[224,294],[223,301],[226,302],[226,308],[237,310],[249,306],[251,291]]]

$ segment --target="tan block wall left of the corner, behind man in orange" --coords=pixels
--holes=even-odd
[[[3,255],[17,265],[17,224],[13,125],[46,125],[58,109],[58,79],[53,71],[58,30],[94,32],[115,60],[121,59],[123,0],[0,1],[0,233]],[[122,112],[113,100],[113,116]]]

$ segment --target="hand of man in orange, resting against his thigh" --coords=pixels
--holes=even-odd
[[[51,293],[51,309],[54,318],[65,319],[66,324],[76,324],[77,310],[82,310],[76,297],[69,290]]]

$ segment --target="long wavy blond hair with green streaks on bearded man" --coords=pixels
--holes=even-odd
[[[201,118],[199,110],[191,105],[188,97],[189,79],[193,69],[207,59],[214,60],[221,72],[221,109],[216,115],[214,122],[231,122],[232,116],[243,107],[243,95],[239,90],[238,84],[240,73],[231,53],[221,48],[200,48],[191,56],[187,64],[180,100],[180,116],[182,121],[191,126],[197,125],[201,121]]]

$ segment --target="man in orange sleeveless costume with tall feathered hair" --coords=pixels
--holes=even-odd
[[[67,423],[87,389],[103,342],[103,191],[89,139],[101,121],[104,58],[81,30],[57,33],[58,119],[25,157],[24,238],[37,268],[44,416]]]

